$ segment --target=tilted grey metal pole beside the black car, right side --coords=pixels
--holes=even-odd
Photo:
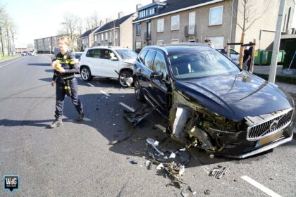
[[[283,23],[283,12],[285,10],[285,0],[280,0],[280,8],[278,10],[278,21],[276,23],[276,34],[274,36],[271,70],[269,70],[269,82],[273,83],[276,80],[276,64],[278,62],[278,49],[280,48],[280,28]]]

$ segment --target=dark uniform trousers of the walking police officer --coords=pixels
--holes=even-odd
[[[75,77],[70,79],[69,82],[72,92],[72,102],[78,113],[80,113],[83,110],[83,106],[78,98],[78,82]],[[66,84],[63,80],[59,78],[56,80],[56,115],[63,115],[63,100],[66,96],[66,90],[64,89],[65,86]]]

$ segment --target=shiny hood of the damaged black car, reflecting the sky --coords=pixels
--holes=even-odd
[[[289,94],[246,71],[176,80],[175,89],[212,112],[232,120],[242,120],[246,116],[263,115],[293,106]]]

